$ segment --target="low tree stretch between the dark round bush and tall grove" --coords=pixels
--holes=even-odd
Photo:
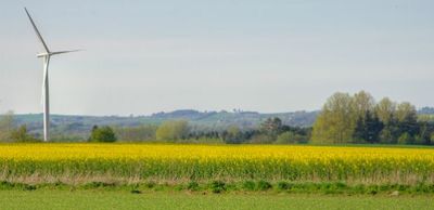
[[[307,143],[311,128],[289,127],[279,118],[268,118],[257,129],[230,126],[227,129],[194,128],[187,120],[169,120],[159,126],[114,128],[119,141],[194,142],[194,143]]]

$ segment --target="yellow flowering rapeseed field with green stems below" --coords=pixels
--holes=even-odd
[[[434,180],[434,149],[286,145],[0,144],[1,179]]]

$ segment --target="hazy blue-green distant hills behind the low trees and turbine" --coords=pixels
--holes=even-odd
[[[166,120],[183,119],[188,120],[193,127],[206,130],[221,130],[229,126],[237,124],[248,129],[257,127],[261,121],[269,117],[279,117],[284,124],[310,127],[318,111],[294,111],[260,114],[256,111],[197,111],[193,109],[181,109],[170,113],[156,113],[151,116],[75,116],[75,115],[51,115],[51,128],[53,133],[64,135],[87,136],[93,124],[98,126],[118,126],[135,127],[140,124],[158,124]],[[17,124],[27,124],[33,133],[42,132],[42,114],[16,115]]]

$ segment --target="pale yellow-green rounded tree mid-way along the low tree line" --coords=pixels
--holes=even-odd
[[[162,141],[177,141],[188,137],[189,131],[189,122],[186,120],[165,121],[156,130],[156,139]]]

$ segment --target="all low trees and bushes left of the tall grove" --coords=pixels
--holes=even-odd
[[[194,143],[306,143],[310,128],[289,127],[279,118],[265,120],[257,129],[230,126],[227,129],[193,127],[187,120],[168,120],[161,124],[138,127],[93,126],[87,142],[194,142]],[[53,137],[52,141],[59,141]],[[64,139],[63,141],[72,141]],[[81,140],[82,141],[82,140]],[[25,124],[17,127],[13,114],[0,117],[0,142],[41,142]]]

